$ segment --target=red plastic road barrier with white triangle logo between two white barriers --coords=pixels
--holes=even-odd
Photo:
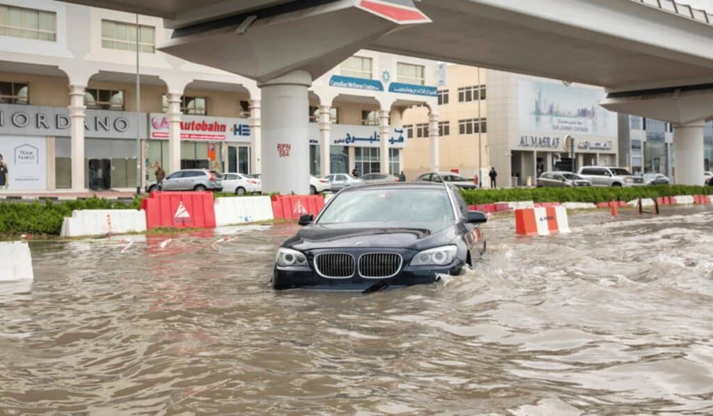
[[[141,201],[146,228],[214,228],[215,206],[210,192],[152,192]]]

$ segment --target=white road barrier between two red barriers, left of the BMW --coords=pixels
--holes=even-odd
[[[215,225],[255,223],[272,220],[269,196],[242,196],[215,200]]]

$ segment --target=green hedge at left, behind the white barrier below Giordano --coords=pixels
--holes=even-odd
[[[60,203],[0,202],[0,235],[58,235],[64,217],[71,216],[73,210],[138,209],[140,206],[140,197],[126,202],[108,201],[96,196]]]

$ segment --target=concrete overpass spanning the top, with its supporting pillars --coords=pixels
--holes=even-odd
[[[160,48],[262,87],[263,187],[304,193],[307,88],[359,49],[603,86],[602,106],[674,123],[677,183],[703,181],[713,15],[671,0],[70,0],[162,16]],[[304,159],[304,160],[302,160]]]

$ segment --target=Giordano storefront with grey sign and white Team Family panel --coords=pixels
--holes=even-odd
[[[139,113],[140,138],[146,115]],[[10,172],[9,190],[71,187],[70,119],[65,107],[0,104],[0,154]],[[136,186],[136,114],[87,110],[84,122],[85,186]]]

